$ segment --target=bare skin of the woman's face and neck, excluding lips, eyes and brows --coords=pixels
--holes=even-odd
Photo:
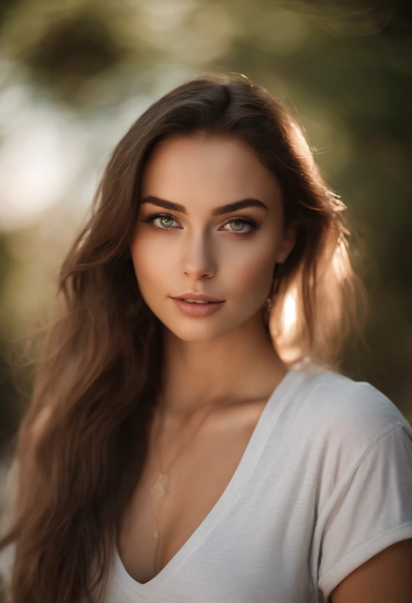
[[[296,240],[284,231],[282,195],[276,177],[237,140],[182,136],[155,148],[142,177],[140,199],[149,195],[186,207],[163,211],[140,204],[131,255],[140,291],[164,324],[164,405],[175,414],[193,412],[212,400],[260,398],[286,374],[273,349],[261,311],[275,262],[284,262]],[[248,207],[212,216],[214,207],[252,197],[268,209]],[[246,216],[238,236],[229,218]],[[236,227],[236,225],[235,225]],[[167,230],[166,230],[167,229]],[[209,317],[182,314],[170,298],[187,291],[225,300]]]

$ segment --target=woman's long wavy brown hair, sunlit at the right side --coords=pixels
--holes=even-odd
[[[200,131],[249,145],[281,184],[285,226],[298,229],[273,275],[268,326],[281,358],[335,367],[358,324],[364,289],[352,268],[346,206],[282,103],[223,74],[158,99],[114,149],[61,267],[65,308],[45,338],[20,425],[13,522],[0,541],[15,547],[11,603],[90,601],[89,590],[105,584],[142,471],[163,359],[163,325],[140,294],[130,255],[140,176],[158,141]]]

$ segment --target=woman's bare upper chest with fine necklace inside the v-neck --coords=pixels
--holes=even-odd
[[[189,432],[182,440],[165,441],[160,459],[153,429],[142,476],[120,525],[119,554],[134,580],[145,584],[157,576],[202,525],[231,482],[265,402],[225,412],[193,439]],[[166,469],[167,487],[156,507],[152,488],[160,467]]]

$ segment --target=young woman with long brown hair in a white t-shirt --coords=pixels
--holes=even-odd
[[[412,429],[336,370],[344,209],[246,78],[137,119],[20,427],[12,603],[410,601]]]

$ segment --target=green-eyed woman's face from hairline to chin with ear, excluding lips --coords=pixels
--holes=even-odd
[[[179,207],[164,209],[161,200]],[[216,211],[242,200],[257,203]],[[163,217],[148,221],[155,212]],[[176,336],[207,341],[261,316],[275,262],[294,242],[292,230],[283,232],[279,183],[245,144],[182,136],[155,147],[142,174],[131,254],[144,300]],[[188,292],[224,303],[189,316],[173,301]]]

